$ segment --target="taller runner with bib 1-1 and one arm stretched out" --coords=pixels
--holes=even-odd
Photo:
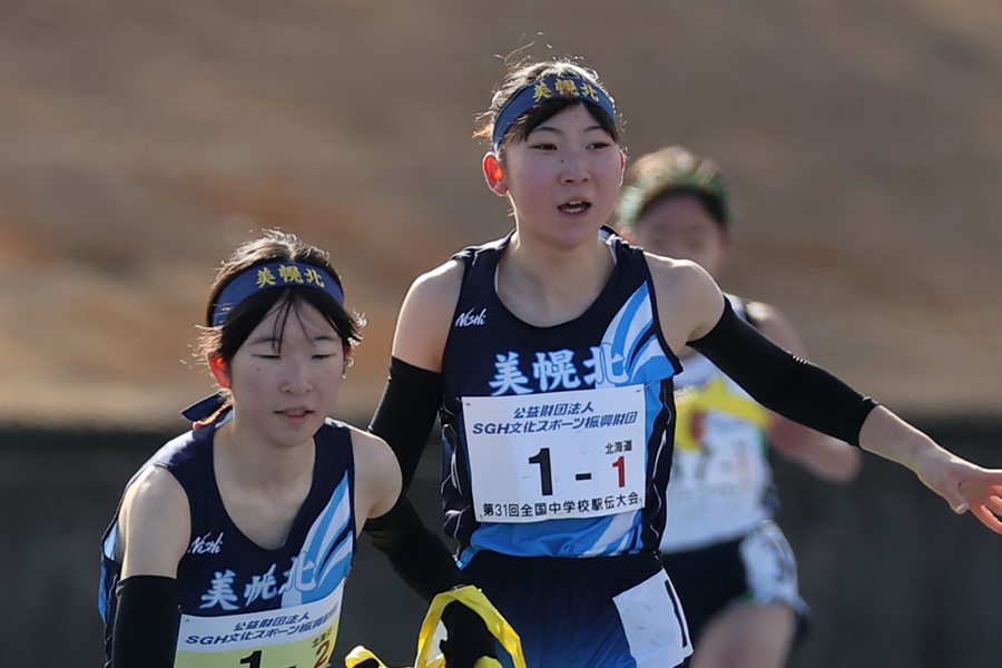
[[[671,379],[687,344],[764,405],[902,462],[1002,530],[1002,472],[772,344],[695,263],[603,228],[626,157],[593,72],[515,66],[482,134],[484,177],[509,198],[514,229],[411,286],[370,429],[396,452],[406,489],[441,412],[445,530],[530,667],[665,668],[691,652],[658,552]]]

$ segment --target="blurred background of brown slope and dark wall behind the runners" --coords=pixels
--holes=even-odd
[[[210,390],[190,345],[239,242],[332,252],[369,321],[338,416],[367,421],[410,282],[511,226],[470,136],[523,47],[598,69],[631,156],[717,158],[726,289],[1002,464],[998,0],[0,0],[0,662],[99,665],[100,531]],[[998,537],[874,458],[848,490],[797,475],[793,665],[998,666]],[[403,662],[420,606],[382,566],[342,638]]]

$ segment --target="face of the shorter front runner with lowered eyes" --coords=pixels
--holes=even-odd
[[[235,419],[279,446],[313,438],[341,391],[344,344],[320,311],[298,303],[288,315],[282,346],[271,313],[237,350],[229,365]]]

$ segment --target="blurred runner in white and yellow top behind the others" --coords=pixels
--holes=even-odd
[[[727,186],[711,160],[672,146],[627,170],[618,206],[623,238],[690,259],[714,277],[730,257]],[[727,295],[739,317],[784,348],[803,344],[773,306]],[[678,591],[692,668],[778,668],[808,610],[779,527],[770,452],[833,482],[848,482],[859,450],[768,413],[713,362],[686,346],[675,376],[675,455],[668,483],[665,569]]]

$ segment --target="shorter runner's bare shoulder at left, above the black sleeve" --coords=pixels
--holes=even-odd
[[[161,466],[143,470],[126,490],[119,512],[122,578],[177,574],[191,533],[188,497]]]

